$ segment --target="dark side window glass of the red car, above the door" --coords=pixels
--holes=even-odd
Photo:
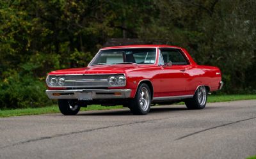
[[[168,63],[168,61],[172,61],[172,64],[175,65],[186,65],[188,61],[186,57],[180,52],[178,49],[161,49],[164,63]]]

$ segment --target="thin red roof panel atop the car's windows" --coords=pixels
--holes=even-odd
[[[177,47],[177,46],[171,46],[171,45],[124,45],[124,46],[115,46],[115,47],[104,47],[102,48],[102,50],[105,49],[123,49],[123,48],[150,48],[150,47],[157,47],[157,48],[161,48],[161,47],[170,47],[170,48],[175,48],[175,49],[182,49],[181,47]]]

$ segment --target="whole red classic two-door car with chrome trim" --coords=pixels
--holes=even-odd
[[[185,49],[169,45],[106,47],[86,68],[51,72],[46,83],[64,115],[92,104],[124,105],[133,114],[173,102],[204,109],[207,93],[223,86],[219,68],[198,65]]]

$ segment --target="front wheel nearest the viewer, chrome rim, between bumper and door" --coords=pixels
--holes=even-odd
[[[129,102],[129,109],[134,115],[145,115],[150,111],[150,105],[150,89],[147,84],[140,84],[140,86],[138,86],[135,97],[132,98]]]

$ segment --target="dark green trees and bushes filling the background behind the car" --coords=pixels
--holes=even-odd
[[[1,0],[1,108],[48,103],[47,72],[86,66],[108,38],[179,45],[221,68],[223,92],[256,93],[255,8],[253,0]]]

